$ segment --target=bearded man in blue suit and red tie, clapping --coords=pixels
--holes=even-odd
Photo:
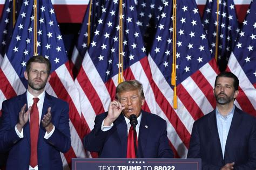
[[[59,152],[71,146],[68,103],[50,96],[51,63],[41,55],[26,63],[28,90],[3,102],[0,152],[9,152],[6,169],[63,169]]]

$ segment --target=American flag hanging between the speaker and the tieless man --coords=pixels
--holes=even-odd
[[[167,135],[176,157],[187,155],[194,121],[215,108],[213,87],[217,65],[210,53],[206,33],[195,1],[177,1],[176,5],[176,84],[178,108],[173,109],[171,86],[173,63],[173,1],[164,3],[151,52],[148,56],[153,113],[167,122]],[[147,94],[147,93],[146,93]],[[151,104],[149,104],[151,105]]]

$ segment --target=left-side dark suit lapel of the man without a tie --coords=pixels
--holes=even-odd
[[[221,151],[221,144],[220,144],[220,138],[219,138],[219,132],[218,132],[218,127],[217,127],[217,119],[216,119],[216,111],[215,109],[210,113],[211,115],[209,115],[208,118],[208,128],[211,131],[211,135],[212,135],[212,143],[214,143],[214,145],[216,146],[216,152],[218,155],[221,155],[223,158],[223,153]]]

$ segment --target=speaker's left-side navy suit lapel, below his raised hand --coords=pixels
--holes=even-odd
[[[127,124],[125,122],[124,116],[121,114],[117,120],[115,121],[115,125],[117,128],[117,133],[121,142],[121,151],[122,155],[126,158],[127,152]]]

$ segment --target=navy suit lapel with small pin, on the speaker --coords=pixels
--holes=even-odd
[[[138,157],[139,158],[144,158],[144,150],[147,145],[147,139],[149,135],[150,127],[148,126],[147,123],[147,114],[142,111],[142,119],[140,121],[140,126],[139,126],[139,146],[138,146]]]

